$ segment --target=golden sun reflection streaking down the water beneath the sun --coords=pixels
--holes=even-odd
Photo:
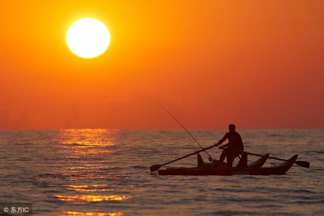
[[[89,205],[89,202],[124,201],[133,198],[127,195],[102,194],[114,191],[108,184],[87,184],[90,179],[129,178],[128,175],[115,174],[114,166],[110,164],[112,157],[109,157],[109,154],[118,151],[115,146],[117,134],[115,131],[106,129],[65,129],[60,131],[57,142],[61,144],[59,148],[61,157],[58,160],[56,172],[60,177],[67,177],[69,181],[78,181],[79,183],[76,185],[71,182],[63,184],[65,194],[53,194],[56,199],[74,205]],[[85,180],[87,183],[84,182]],[[120,216],[123,213],[66,211],[64,215]]]

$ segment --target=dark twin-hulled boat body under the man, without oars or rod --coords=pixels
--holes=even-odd
[[[159,169],[160,176],[233,176],[233,175],[284,175],[296,162],[298,155],[294,155],[285,162],[277,165],[262,167],[269,157],[269,154],[263,155],[260,159],[247,163],[247,155],[242,154],[240,161],[235,167],[215,166],[213,163],[205,163],[201,156],[197,154],[198,165],[196,167],[180,167]]]

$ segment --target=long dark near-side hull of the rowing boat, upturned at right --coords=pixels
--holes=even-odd
[[[158,170],[158,175],[161,176],[233,176],[233,175],[284,175],[295,163],[298,155],[294,155],[289,161],[270,166],[259,167],[248,166],[246,168],[168,168]],[[262,162],[265,160],[262,160]],[[264,162],[263,162],[264,163]],[[263,165],[263,164],[262,164]]]

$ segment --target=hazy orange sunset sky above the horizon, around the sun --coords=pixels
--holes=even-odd
[[[323,1],[2,1],[0,128],[324,128]],[[109,29],[83,59],[65,36]]]

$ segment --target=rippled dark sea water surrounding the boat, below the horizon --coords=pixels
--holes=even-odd
[[[226,131],[191,132],[208,147]],[[299,154],[311,167],[294,165],[282,176],[158,176],[150,165],[199,150],[186,132],[0,131],[0,202],[32,203],[34,215],[324,214],[323,130],[238,132],[246,151]],[[220,150],[209,153],[219,158]],[[195,164],[193,155],[170,166]]]

